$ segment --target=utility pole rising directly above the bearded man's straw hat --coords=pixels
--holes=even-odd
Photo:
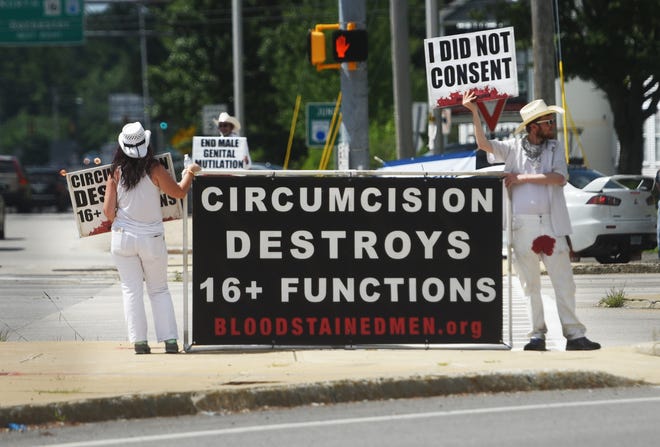
[[[555,104],[555,46],[552,2],[532,0],[532,47],[534,53],[534,98]]]

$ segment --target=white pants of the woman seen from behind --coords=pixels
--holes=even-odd
[[[163,235],[137,236],[113,229],[110,253],[121,278],[129,341],[147,340],[143,279],[151,300],[157,340],[178,338],[172,296],[167,286],[167,247]]]

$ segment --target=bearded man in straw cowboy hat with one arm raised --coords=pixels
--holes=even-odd
[[[513,262],[532,319],[530,341],[524,349],[546,350],[539,261],[543,261],[555,291],[566,350],[600,349],[600,344],[585,337],[586,328],[575,313],[575,281],[566,241],[572,229],[563,190],[568,168],[564,151],[555,139],[555,113],[564,110],[537,99],[520,110],[523,122],[515,133],[524,130],[525,135],[507,141],[488,140],[475,99],[475,94],[469,92],[463,97],[463,105],[472,112],[477,145],[489,157],[504,163],[504,185],[511,191]]]

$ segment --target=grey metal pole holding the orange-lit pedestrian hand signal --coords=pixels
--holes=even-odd
[[[366,0],[339,0],[340,28],[346,29],[346,25],[353,22],[356,29],[365,29],[366,11]],[[349,65],[342,63],[339,70],[343,137],[338,149],[348,149],[350,169],[369,169],[367,63],[359,62],[355,70],[350,70]]]

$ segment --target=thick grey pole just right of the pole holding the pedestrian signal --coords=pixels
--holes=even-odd
[[[410,99],[410,51],[408,49],[408,2],[390,0],[394,124],[397,158],[415,155],[412,147],[412,100]]]

